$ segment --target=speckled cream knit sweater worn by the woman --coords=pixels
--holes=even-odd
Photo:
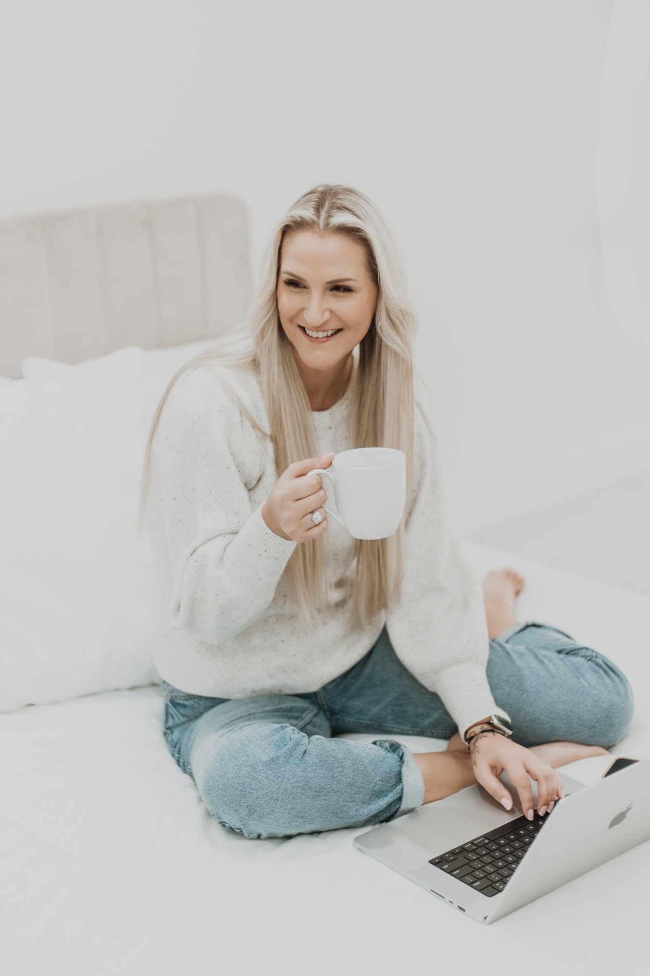
[[[271,532],[261,514],[277,479],[272,446],[226,385],[267,430],[254,373],[201,366],[173,388],[154,438],[149,512],[161,676],[217,698],[316,691],[356,664],[386,624],[399,659],[440,696],[461,731],[494,712],[483,601],[443,516],[423,412],[416,411],[400,605],[368,627],[350,626],[353,540],[330,519],[329,608],[307,627],[285,573],[296,544]],[[353,446],[349,405],[348,389],[330,410],[312,413],[321,455]]]

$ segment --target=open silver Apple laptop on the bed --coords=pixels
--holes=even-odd
[[[558,772],[565,796],[545,817],[528,821],[517,806],[508,813],[472,786],[371,828],[354,845],[489,925],[650,838],[650,758],[592,786]]]

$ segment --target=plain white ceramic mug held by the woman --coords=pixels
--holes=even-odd
[[[386,539],[397,531],[406,503],[406,458],[390,447],[358,447],[337,454],[331,468],[309,474],[329,478],[328,515],[341,522],[354,539]]]

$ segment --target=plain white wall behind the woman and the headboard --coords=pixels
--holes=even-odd
[[[628,0],[624,0],[628,2]],[[3,0],[0,214],[228,190],[256,264],[308,186],[403,248],[461,531],[650,464],[604,298],[612,0]]]

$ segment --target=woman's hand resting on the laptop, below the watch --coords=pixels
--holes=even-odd
[[[558,796],[564,796],[562,781],[552,766],[543,764],[533,752],[518,746],[506,736],[494,732],[478,732],[469,744],[469,755],[477,781],[510,810],[512,797],[499,779],[503,772],[508,773],[511,783],[519,793],[521,809],[528,820],[533,819],[535,811],[529,776],[537,781],[537,809],[541,816],[547,810],[552,810]]]

